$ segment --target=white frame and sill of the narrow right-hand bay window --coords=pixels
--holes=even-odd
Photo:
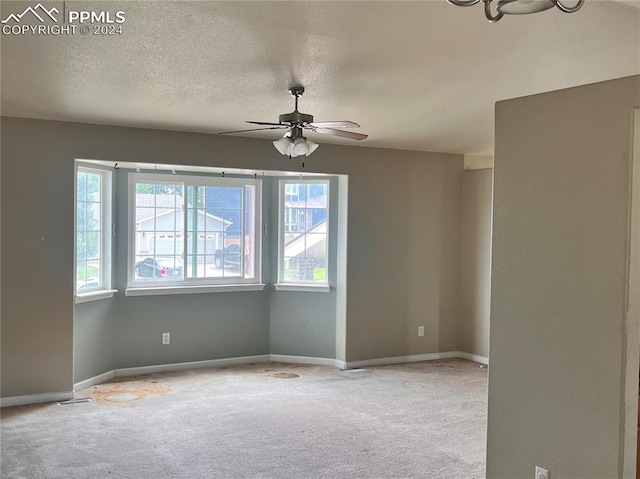
[[[327,186],[327,219],[326,219],[326,223],[327,223],[327,246],[325,249],[325,257],[326,257],[326,261],[327,261],[327,267],[326,267],[326,275],[325,275],[325,281],[320,283],[320,282],[313,282],[313,281],[300,281],[300,282],[291,282],[291,281],[284,281],[284,226],[285,226],[285,191],[286,191],[286,184],[291,184],[294,183],[296,185],[301,185],[301,184],[323,184]],[[330,291],[330,285],[329,285],[329,233],[330,233],[330,228],[329,228],[329,219],[330,219],[330,208],[331,208],[331,201],[330,201],[330,189],[331,189],[331,182],[329,180],[329,178],[325,178],[325,179],[317,179],[317,180],[291,180],[291,179],[281,179],[279,181],[279,185],[278,185],[278,282],[276,283],[275,287],[277,291],[316,291],[316,292],[328,292]],[[299,192],[299,188],[297,188],[297,191]],[[306,233],[305,233],[306,234]],[[297,288],[297,289],[294,289]]]

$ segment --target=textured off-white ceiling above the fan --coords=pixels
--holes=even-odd
[[[3,0],[2,18],[28,4]],[[124,11],[122,35],[2,35],[1,111],[217,133],[277,121],[299,83],[301,111],[369,134],[319,143],[491,155],[495,102],[640,73],[638,5],[490,24],[445,0],[67,1]]]

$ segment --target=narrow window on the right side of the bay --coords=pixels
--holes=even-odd
[[[328,181],[280,181],[279,283],[328,285],[328,219]]]

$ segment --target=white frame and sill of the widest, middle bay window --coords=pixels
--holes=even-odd
[[[253,278],[241,277],[209,277],[209,278],[184,278],[177,281],[145,281],[135,279],[135,194],[136,183],[165,183],[175,184],[183,183],[185,187],[184,201],[186,204],[187,186],[246,186],[253,185],[255,187],[254,211],[253,211],[253,228],[254,237],[251,245],[254,258],[254,275]],[[154,173],[137,173],[128,174],[128,251],[127,251],[127,287],[125,289],[126,296],[147,296],[160,294],[190,294],[190,293],[213,293],[226,291],[256,291],[264,288],[262,284],[262,180],[257,178],[220,178],[211,176],[197,175],[167,175]],[[244,221],[244,214],[242,216]],[[186,219],[186,214],[185,214]],[[187,231],[183,231],[184,237],[187,237]],[[185,261],[186,249],[183,252],[183,264]],[[247,288],[242,288],[247,286]],[[259,289],[257,289],[259,288]]]

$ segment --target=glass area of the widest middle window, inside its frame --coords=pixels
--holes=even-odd
[[[149,181],[156,177],[157,182]],[[240,184],[237,179],[202,176],[194,176],[193,181],[220,185],[189,184],[187,176],[182,177],[186,178],[184,185],[164,184],[160,178],[165,177],[144,175],[136,183],[136,273],[132,279],[145,282],[185,279],[192,284],[224,283],[226,277],[236,278],[229,282],[237,282],[237,278],[254,279],[253,268],[251,275],[243,278],[245,258],[249,257],[243,243],[247,237],[248,248],[254,248],[251,243],[255,226],[248,225],[256,221],[255,206],[247,204],[247,199],[257,201],[253,195],[256,186]],[[168,274],[170,265],[162,268],[157,264],[139,264],[141,259],[158,262],[168,256],[183,261],[181,276]]]

